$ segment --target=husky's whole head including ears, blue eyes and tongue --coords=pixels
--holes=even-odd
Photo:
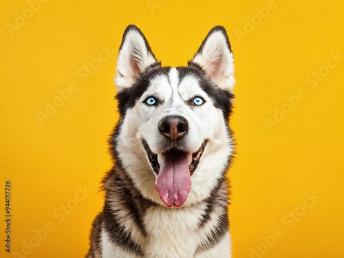
[[[116,68],[116,149],[144,197],[180,207],[210,195],[233,153],[233,74],[222,27],[208,33],[187,67],[162,67],[142,32],[125,30]]]

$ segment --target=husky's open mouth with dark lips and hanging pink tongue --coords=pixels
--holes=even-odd
[[[191,189],[191,175],[200,163],[207,142],[204,140],[195,153],[169,149],[158,155],[151,151],[145,140],[142,140],[149,162],[157,175],[155,189],[166,206],[180,207],[186,201]]]

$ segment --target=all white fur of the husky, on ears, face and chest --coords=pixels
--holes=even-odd
[[[133,49],[136,49],[133,51]],[[131,87],[140,73],[156,60],[147,50],[144,39],[135,30],[128,32],[125,43],[118,57],[116,85],[118,92]],[[233,73],[233,54],[228,50],[222,32],[215,31],[208,36],[202,52],[195,55],[194,63],[199,64],[208,76],[222,89],[232,92],[235,83]],[[144,104],[148,96],[156,96],[161,104],[149,107]],[[187,101],[194,96],[201,96],[204,105],[190,107]],[[181,208],[166,208],[155,191],[155,173],[142,147],[142,138],[147,141],[151,151],[161,155],[159,142],[164,136],[158,130],[159,121],[165,116],[182,116],[189,122],[189,132],[184,136],[188,152],[196,152],[204,139],[208,144],[191,176],[191,191]],[[232,142],[224,122],[222,111],[215,107],[213,100],[200,87],[194,76],[185,76],[179,82],[178,70],[172,68],[169,74],[159,75],[151,80],[150,85],[136,105],[127,110],[118,136],[118,155],[131,177],[136,189],[149,200],[160,204],[149,208],[145,213],[144,228],[147,236],[143,237],[131,215],[118,207],[119,198],[113,197],[113,213],[126,230],[132,230],[133,241],[144,247],[149,258],[191,258],[197,246],[204,242],[211,230],[218,224],[222,211],[215,206],[203,228],[198,223],[205,213],[206,204],[202,201],[209,197],[217,184],[218,178],[227,166],[228,158],[233,153]],[[211,175],[209,175],[211,171]],[[227,193],[224,193],[227,194]],[[117,206],[116,206],[117,204]],[[217,211],[218,209],[218,211]],[[109,235],[102,231],[103,257],[138,258],[111,243]],[[211,250],[200,252],[193,257],[230,257],[229,233]]]

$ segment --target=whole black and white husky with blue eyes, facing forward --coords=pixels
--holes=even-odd
[[[142,32],[127,27],[115,79],[120,118],[109,139],[114,166],[87,257],[230,257],[233,74],[220,26],[186,67],[163,67]]]

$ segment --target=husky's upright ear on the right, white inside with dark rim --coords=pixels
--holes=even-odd
[[[192,63],[202,67],[219,88],[233,93],[234,59],[226,30],[222,26],[208,33],[189,65]]]

